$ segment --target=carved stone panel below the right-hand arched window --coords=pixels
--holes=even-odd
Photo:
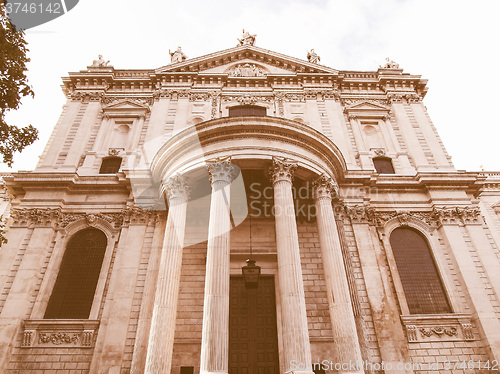
[[[410,343],[474,340],[470,314],[401,316]]]

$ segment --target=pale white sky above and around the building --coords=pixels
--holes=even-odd
[[[27,30],[35,99],[7,117],[40,139],[16,155],[32,170],[55,126],[68,72],[98,54],[119,69],[154,69],[181,46],[188,58],[232,48],[242,28],[255,45],[323,65],[376,71],[386,57],[428,79],[424,103],[457,169],[500,171],[500,1],[476,0],[80,0],[66,15]]]

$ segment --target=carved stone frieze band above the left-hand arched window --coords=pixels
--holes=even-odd
[[[98,219],[102,219],[115,228],[119,228],[134,223],[147,223],[149,220],[156,220],[163,215],[162,211],[137,207],[127,207],[120,212],[111,213],[62,212],[61,208],[14,208],[11,211],[11,226],[65,228],[79,220],[85,220],[88,225],[92,226]]]

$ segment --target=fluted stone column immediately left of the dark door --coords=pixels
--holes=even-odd
[[[227,373],[229,361],[230,183],[229,161],[208,163],[212,196],[208,224],[200,373]]]

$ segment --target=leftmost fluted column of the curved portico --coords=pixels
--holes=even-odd
[[[145,373],[150,374],[170,374],[186,228],[186,179],[176,175],[165,187],[169,208],[146,357]]]

